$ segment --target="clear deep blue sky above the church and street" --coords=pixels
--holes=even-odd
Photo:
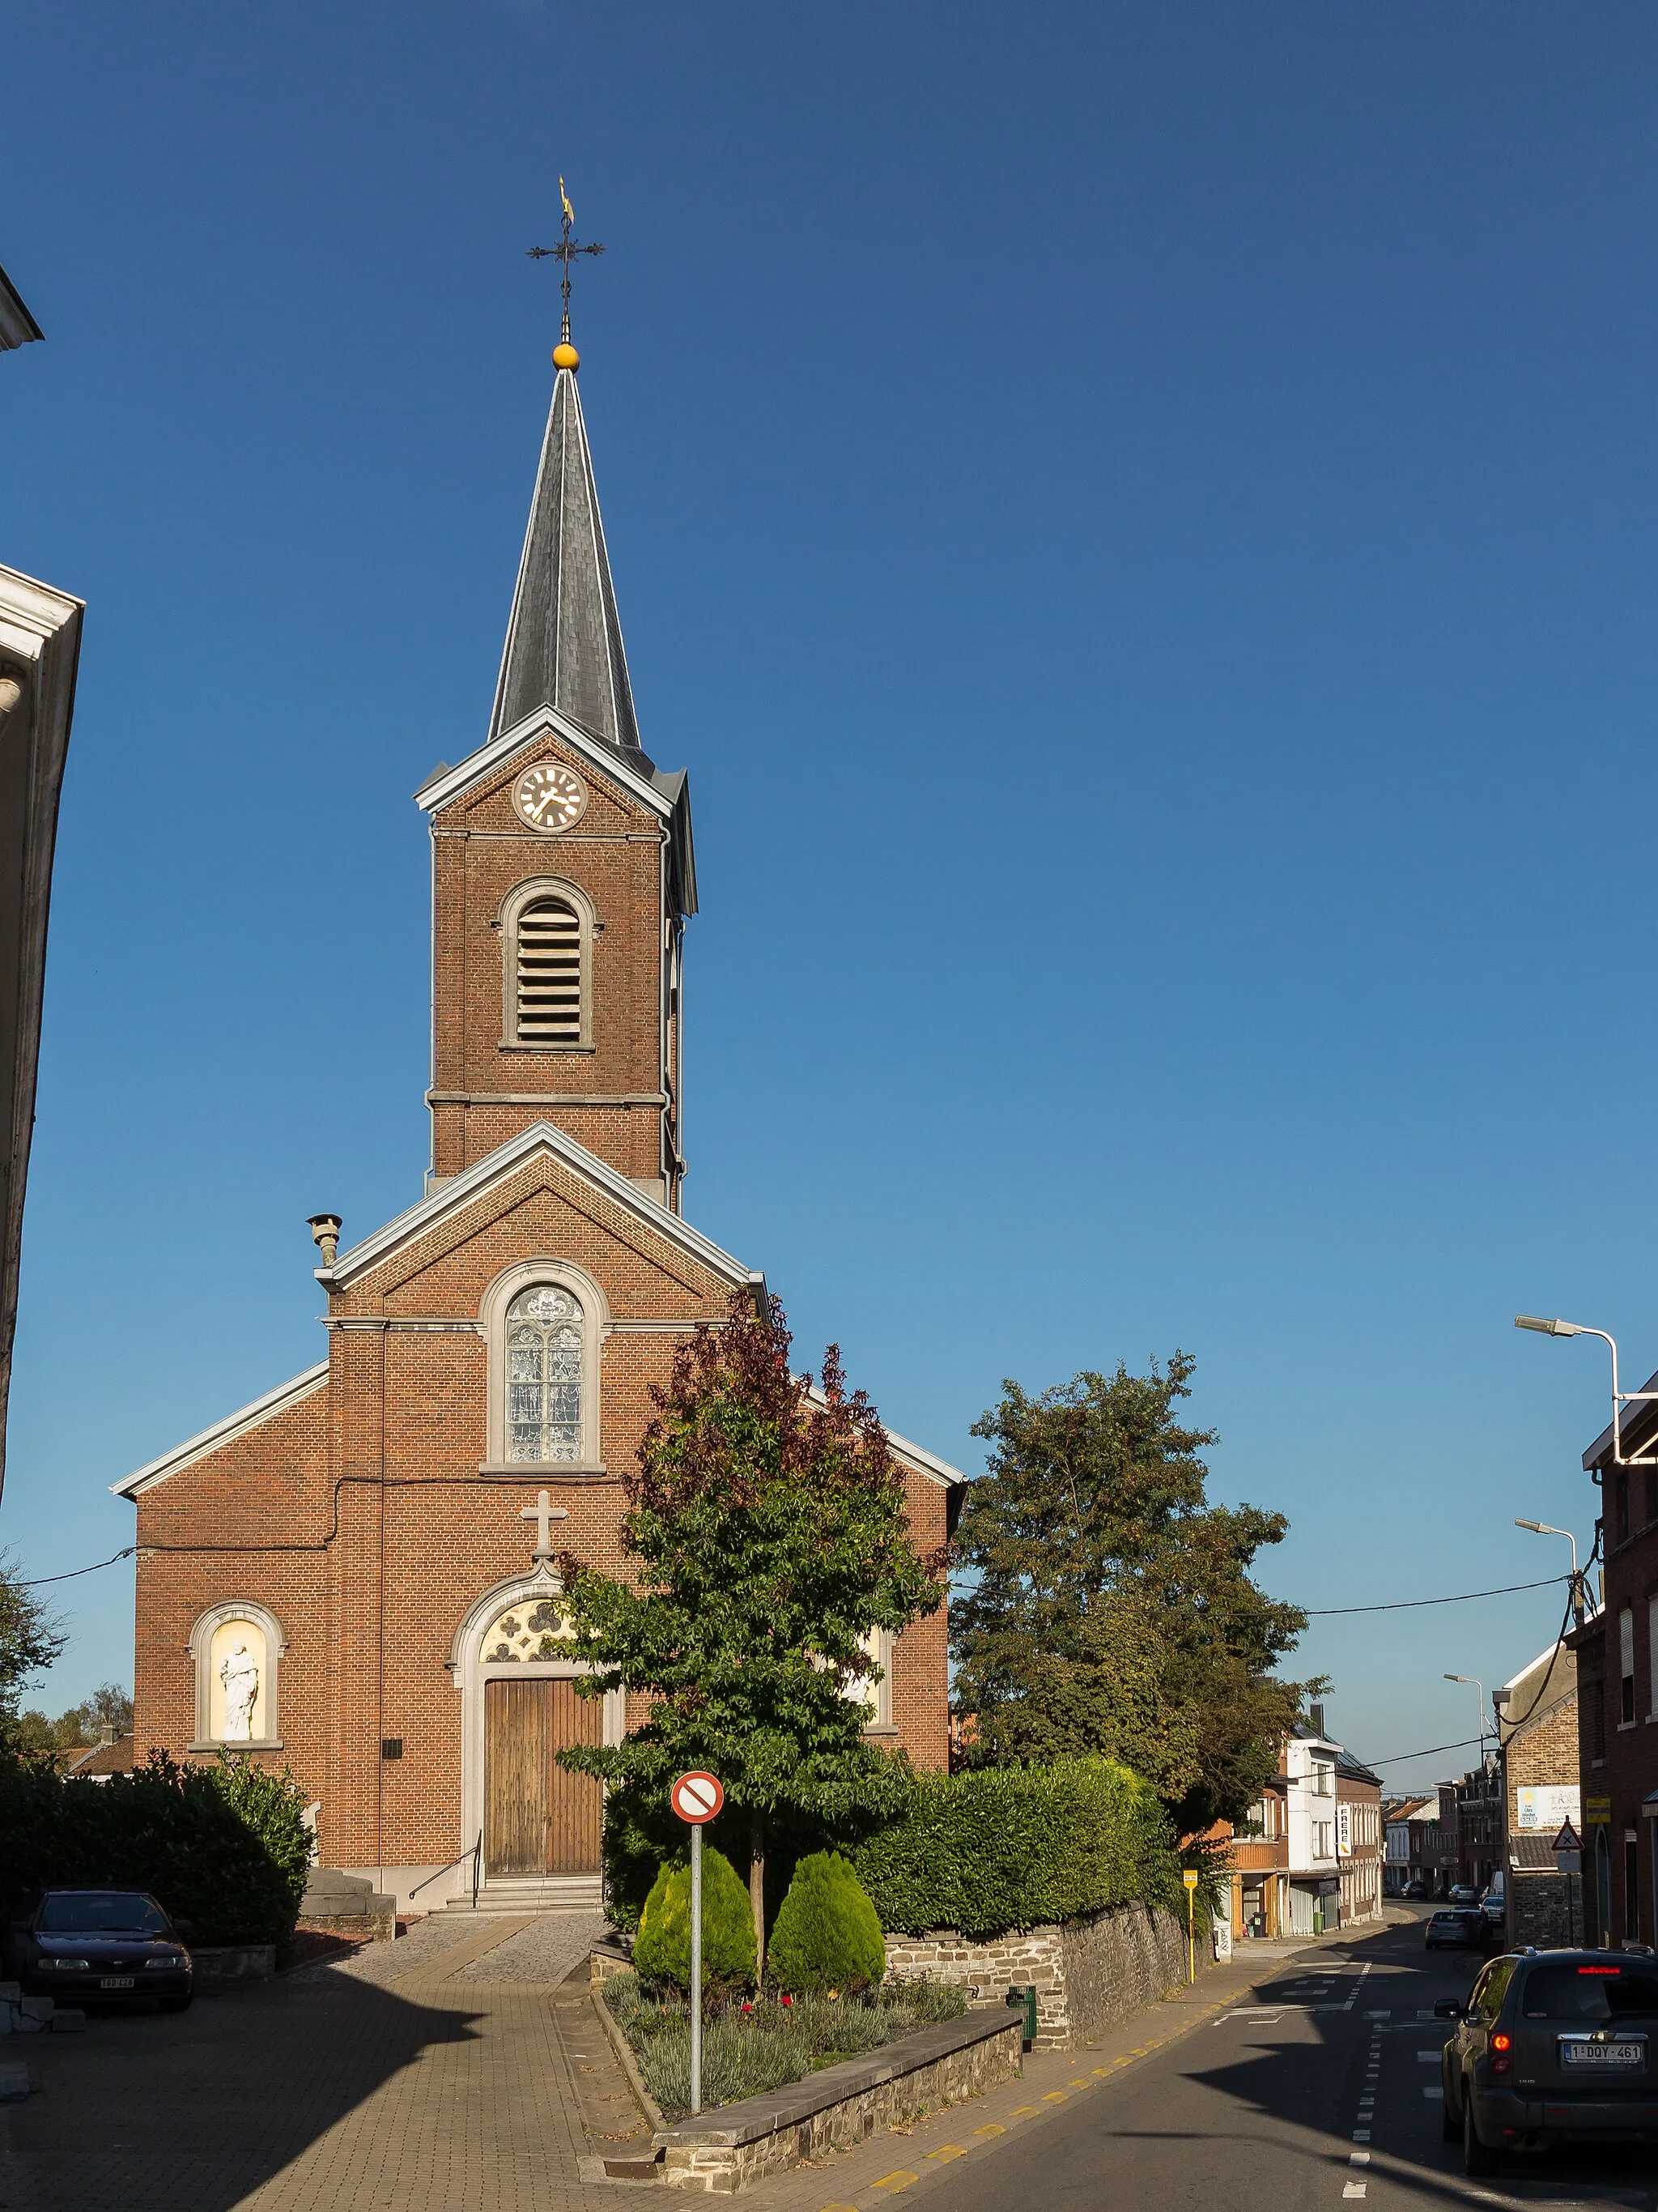
[[[1658,1365],[1658,18],[0,0],[0,557],[88,602],[0,1540],[323,1356],[427,1164],[427,843],[555,336],[688,765],[690,1217],[979,1467],[1198,1356],[1307,1606],[1587,1537]],[[1638,1376],[1636,1376],[1638,1380]],[[1556,1557],[1559,1555],[1559,1557]],[[126,1568],[40,1701],[130,1677]],[[1384,1759],[1556,1593],[1315,1624]],[[1424,1781],[1452,1756],[1393,1765]]]

